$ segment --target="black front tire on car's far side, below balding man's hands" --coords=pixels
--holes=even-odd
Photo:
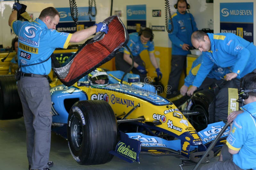
[[[191,111],[197,111],[199,114],[188,116],[189,122],[196,131],[201,131],[209,124],[209,105],[214,100],[215,94],[213,89],[197,91],[190,98],[192,105]]]

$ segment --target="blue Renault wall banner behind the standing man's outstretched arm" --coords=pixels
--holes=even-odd
[[[70,8],[56,8],[60,13],[60,22],[56,26],[59,32],[74,33],[83,30],[95,24],[95,17],[88,15],[88,7],[77,7],[78,10],[78,25],[75,25],[71,14]],[[95,14],[95,8],[92,7],[92,13]]]

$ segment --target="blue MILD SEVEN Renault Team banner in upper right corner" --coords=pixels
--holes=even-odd
[[[220,32],[253,42],[253,3],[220,3]]]

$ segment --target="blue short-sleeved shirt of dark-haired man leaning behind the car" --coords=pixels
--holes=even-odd
[[[143,50],[148,50],[149,53],[155,52],[154,41],[148,41],[146,44],[142,44],[138,32],[129,34],[129,41],[127,46],[130,48],[133,56],[138,56]],[[121,52],[130,54],[126,47],[120,49]]]

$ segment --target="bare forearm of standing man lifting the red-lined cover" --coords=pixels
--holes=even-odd
[[[96,28],[97,26],[93,25],[89,28],[73,33],[69,42],[80,42],[80,41],[83,41],[84,39],[89,38],[91,35],[93,35],[96,32]]]

